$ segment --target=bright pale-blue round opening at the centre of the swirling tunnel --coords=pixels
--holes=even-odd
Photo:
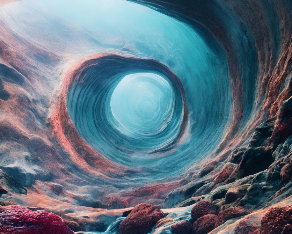
[[[171,85],[153,73],[126,75],[112,93],[110,107],[116,128],[130,137],[147,140],[171,121],[175,105]]]

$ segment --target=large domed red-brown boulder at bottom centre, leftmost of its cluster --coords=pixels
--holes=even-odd
[[[164,216],[165,214],[160,209],[151,204],[138,204],[121,222],[119,234],[147,234]]]

